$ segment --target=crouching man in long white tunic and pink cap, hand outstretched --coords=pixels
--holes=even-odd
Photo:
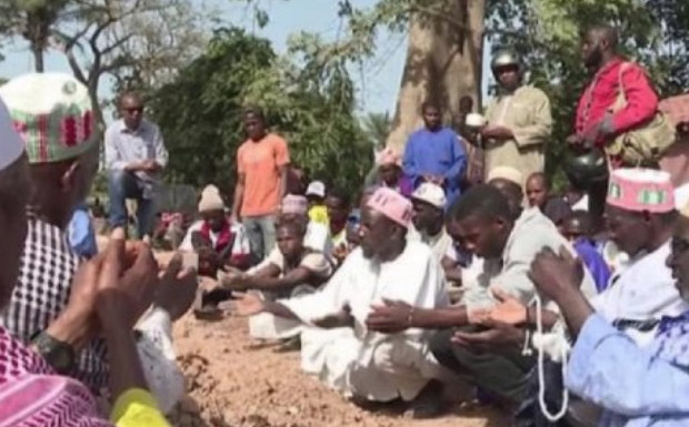
[[[403,196],[377,190],[362,212],[361,246],[323,289],[276,303],[244,295],[238,301],[239,312],[272,313],[312,326],[301,336],[302,368],[347,396],[409,401],[428,395],[422,390],[437,392],[438,383],[431,379],[445,373],[428,350],[428,332],[405,327],[377,333],[366,325],[371,311],[386,301],[425,308],[448,304],[431,251],[406,240],[411,215],[411,203]]]

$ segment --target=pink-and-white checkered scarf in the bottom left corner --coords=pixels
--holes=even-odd
[[[0,427],[111,427],[80,383],[57,376],[0,327]]]

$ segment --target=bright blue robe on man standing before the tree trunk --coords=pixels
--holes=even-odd
[[[460,195],[459,184],[467,170],[467,154],[460,136],[449,128],[436,132],[427,128],[416,131],[407,142],[402,170],[415,189],[423,182],[423,175],[445,176],[449,206]]]

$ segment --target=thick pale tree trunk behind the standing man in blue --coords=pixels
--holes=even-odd
[[[443,17],[416,13],[410,20],[407,62],[387,141],[399,153],[422,124],[420,108],[427,99],[440,103],[448,124],[459,115],[461,96],[480,105],[486,1],[443,1]]]

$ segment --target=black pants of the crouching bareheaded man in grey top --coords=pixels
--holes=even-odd
[[[475,332],[475,326],[460,331]],[[521,403],[528,396],[529,372],[533,357],[525,357],[519,348],[509,353],[477,352],[450,342],[453,329],[438,332],[431,338],[430,349],[438,362],[467,382],[492,392],[513,403]]]

